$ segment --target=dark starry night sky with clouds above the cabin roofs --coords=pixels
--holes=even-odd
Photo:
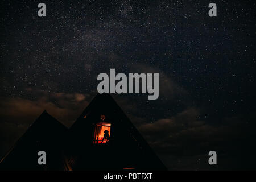
[[[211,2],[1,1],[0,157],[44,109],[71,126],[115,68],[159,73],[158,100],[113,97],[168,169],[255,169],[255,2]]]

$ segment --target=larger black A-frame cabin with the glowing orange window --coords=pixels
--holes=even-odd
[[[69,129],[69,170],[165,170],[110,94],[97,94]]]

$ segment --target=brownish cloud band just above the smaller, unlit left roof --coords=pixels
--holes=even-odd
[[[28,89],[30,90],[30,89]],[[86,96],[81,93],[48,93],[36,91],[38,99],[2,98],[0,115],[5,121],[32,122],[43,110],[70,126],[89,104]]]

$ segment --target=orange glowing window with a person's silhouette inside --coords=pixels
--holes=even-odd
[[[109,143],[111,123],[96,123],[93,143]]]

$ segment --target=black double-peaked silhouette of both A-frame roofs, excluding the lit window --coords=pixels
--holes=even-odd
[[[104,115],[104,117],[102,117]],[[111,123],[108,143],[93,143],[96,123]],[[38,164],[45,151],[47,164]],[[0,169],[92,170],[166,167],[110,94],[97,94],[68,130],[46,111],[1,160]]]

